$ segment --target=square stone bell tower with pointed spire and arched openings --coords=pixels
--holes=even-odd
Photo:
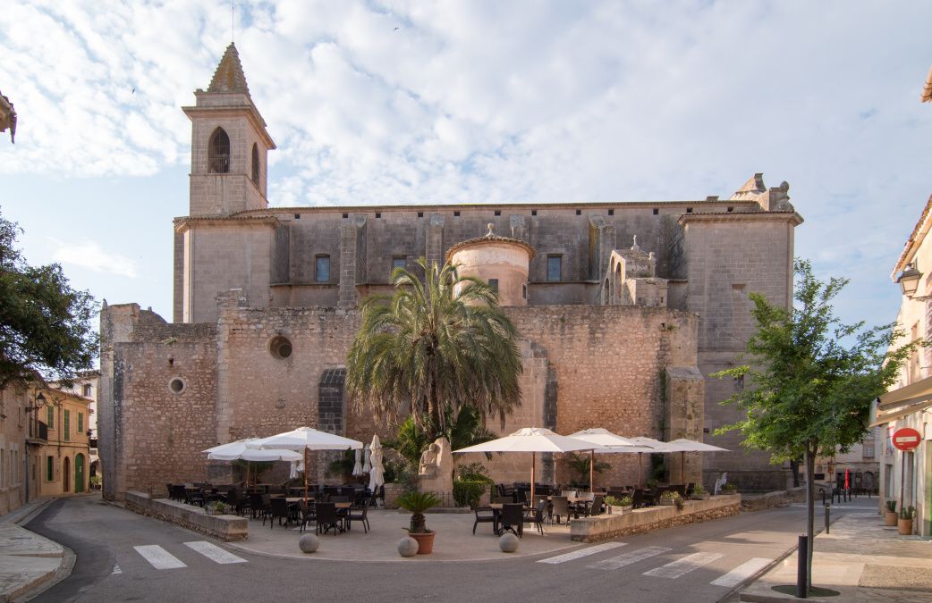
[[[191,120],[190,216],[268,207],[267,158],[275,148],[230,43],[207,90],[182,107]]]

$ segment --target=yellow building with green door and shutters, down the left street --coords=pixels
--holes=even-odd
[[[87,398],[57,389],[34,391],[29,409],[30,498],[89,490]]]

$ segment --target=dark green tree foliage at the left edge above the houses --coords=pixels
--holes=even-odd
[[[70,382],[92,368],[97,304],[72,288],[58,264],[30,266],[20,227],[0,216],[0,389],[10,382]]]

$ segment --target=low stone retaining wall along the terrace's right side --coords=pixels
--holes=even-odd
[[[635,509],[624,515],[580,517],[569,522],[569,537],[581,543],[642,534],[654,529],[672,528],[720,517],[736,516],[741,511],[741,495],[714,496],[706,501],[686,501],[679,511],[676,506],[654,506]]]

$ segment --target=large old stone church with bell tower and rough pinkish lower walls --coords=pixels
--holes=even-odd
[[[459,261],[500,291],[520,330],[523,402],[504,429],[705,440],[731,453],[689,458],[685,481],[721,472],[745,489],[786,486],[788,470],[713,436],[719,405],[753,332],[747,293],[791,300],[788,185],[755,174],[728,198],[612,203],[276,208],[275,149],[236,47],[184,107],[192,124],[190,208],[175,218],[171,321],[136,303],[101,314],[100,452],[105,496],[166,482],[229,477],[201,450],[300,425],[368,441],[391,425],[355,413],[345,356],[359,301],[391,290],[396,266]],[[498,455],[501,481],[527,481],[528,459]],[[691,455],[692,457],[692,455]],[[637,483],[637,455],[611,455],[605,485]],[[465,462],[483,461],[464,459]],[[679,481],[679,459],[668,460]],[[327,479],[325,459],[311,476]],[[537,475],[567,483],[561,458]]]

